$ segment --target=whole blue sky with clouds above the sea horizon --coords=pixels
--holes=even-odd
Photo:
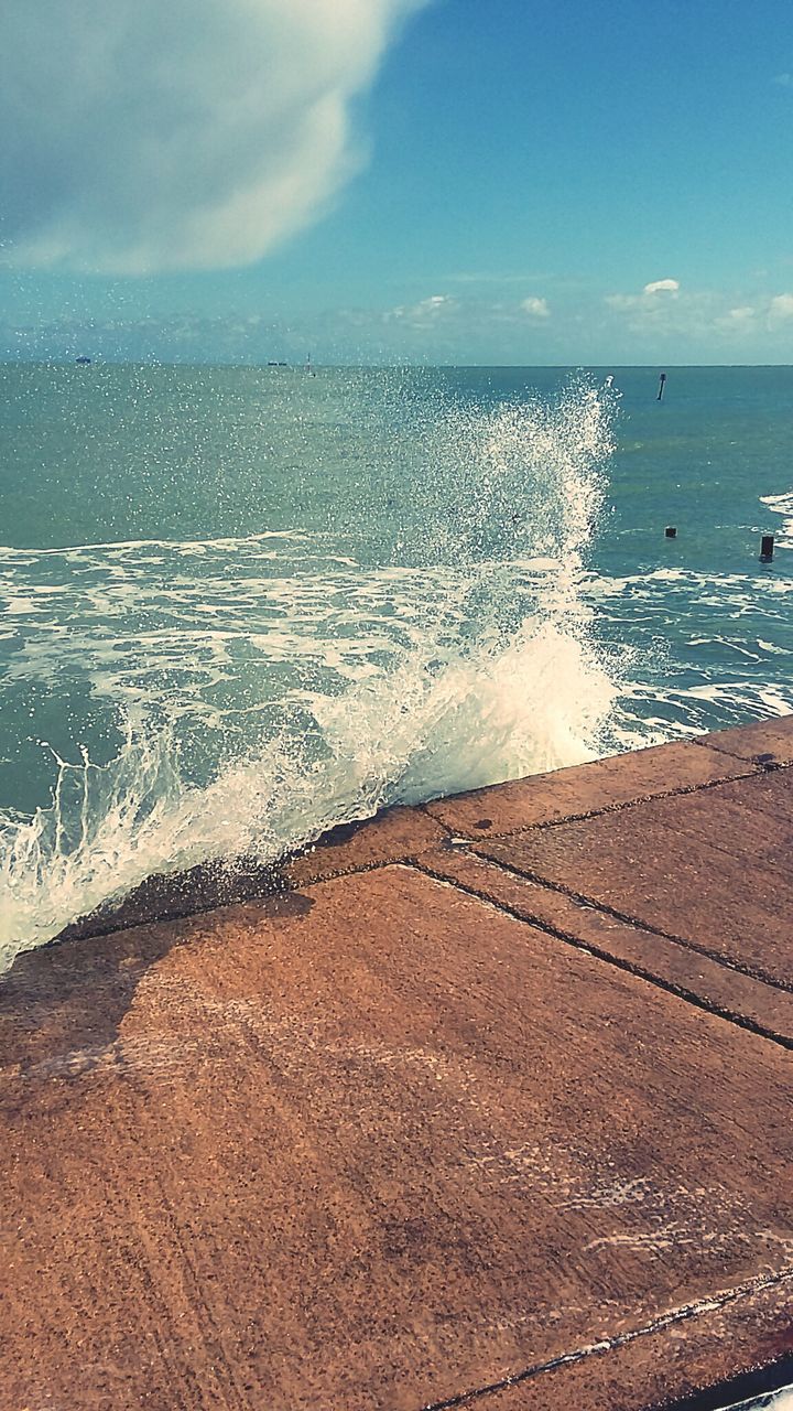
[[[793,361],[789,0],[25,0],[0,356]]]

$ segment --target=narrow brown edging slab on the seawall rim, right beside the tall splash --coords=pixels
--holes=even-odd
[[[477,789],[425,807],[447,828],[483,838],[751,772],[751,763],[720,751],[674,742]]]

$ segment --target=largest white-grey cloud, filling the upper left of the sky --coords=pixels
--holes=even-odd
[[[247,264],[361,165],[350,103],[426,0],[25,0],[0,51],[20,265]]]

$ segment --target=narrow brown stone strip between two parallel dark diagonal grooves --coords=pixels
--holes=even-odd
[[[710,959],[676,941],[618,921],[595,906],[581,906],[563,892],[507,872],[459,848],[439,848],[420,865],[435,876],[470,888],[497,906],[508,906],[528,921],[549,926],[591,945],[597,954],[694,996],[715,1012],[738,1017],[759,1031],[793,1046],[793,995]]]

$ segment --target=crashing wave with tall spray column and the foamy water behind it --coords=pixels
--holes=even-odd
[[[120,744],[109,761],[51,748],[51,801],[0,814],[0,967],[152,873],[268,862],[391,803],[593,758],[615,676],[581,584],[614,415],[579,380],[547,405],[433,418],[423,539],[399,532],[370,569],[313,543],[289,557],[298,532],[28,550],[10,684],[62,679],[66,698],[79,673]],[[231,571],[206,570],[216,552]],[[175,566],[190,556],[199,577]],[[186,758],[202,711],[223,741],[203,776]]]

